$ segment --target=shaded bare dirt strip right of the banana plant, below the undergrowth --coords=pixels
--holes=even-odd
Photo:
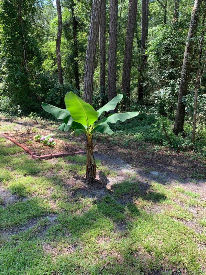
[[[94,141],[95,152],[104,153],[110,157],[121,158],[133,167],[157,171],[169,176],[174,180],[186,178],[206,178],[206,161],[194,159],[184,152],[176,152],[168,148],[155,149],[155,145],[131,141],[128,146],[124,146],[124,138],[118,140],[118,145],[114,144],[113,138],[104,136],[104,143],[101,137]],[[161,177],[161,174],[159,175]],[[152,175],[151,176],[155,176]],[[157,175],[158,176],[158,175]]]

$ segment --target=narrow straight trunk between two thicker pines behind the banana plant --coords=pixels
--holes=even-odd
[[[106,78],[106,1],[102,0],[101,18],[99,25],[99,48],[100,48],[100,97],[101,107],[105,105],[105,78]]]

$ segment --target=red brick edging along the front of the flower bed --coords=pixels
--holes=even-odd
[[[16,145],[22,147],[27,153],[29,153],[31,156],[31,159],[53,159],[53,158],[61,158],[61,157],[65,157],[65,156],[74,156],[74,155],[81,155],[81,154],[85,154],[85,151],[78,151],[78,152],[74,152],[74,153],[55,153],[55,154],[48,154],[48,155],[41,155],[41,156],[36,156],[34,155],[34,152],[32,152],[28,147],[26,147],[25,145],[20,144],[18,141],[16,141],[15,139],[7,136],[6,134],[10,134],[10,133],[2,133],[2,136],[9,139],[10,141],[12,141],[13,143],[15,143]]]

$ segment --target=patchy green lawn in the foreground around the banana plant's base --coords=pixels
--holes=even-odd
[[[201,194],[128,173],[115,182],[100,160],[110,189],[81,189],[84,155],[35,161],[4,138],[0,152],[0,187],[16,198],[0,196],[0,274],[204,274]]]

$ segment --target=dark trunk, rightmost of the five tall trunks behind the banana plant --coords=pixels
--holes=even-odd
[[[143,101],[143,71],[145,67],[145,49],[146,39],[148,36],[147,22],[149,1],[142,0],[142,18],[141,18],[141,46],[140,46],[140,60],[139,60],[139,77],[138,77],[138,101]]]

